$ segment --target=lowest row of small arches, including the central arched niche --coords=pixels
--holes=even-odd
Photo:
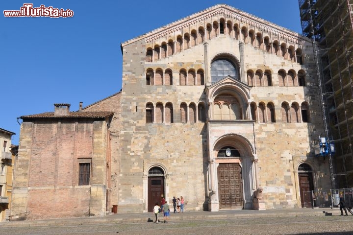
[[[191,102],[186,104],[182,102],[179,106],[179,118],[181,123],[195,123],[197,121],[204,122],[206,120],[206,108],[203,102],[196,104]],[[273,102],[260,102],[256,105],[255,102],[250,104],[251,118],[257,122],[276,122],[275,105]],[[167,102],[163,105],[162,102],[157,102],[155,105],[152,102],[146,104],[146,123],[173,123],[174,111],[173,104]],[[247,119],[243,117],[242,107],[238,102],[221,102],[213,103],[212,120],[240,120]],[[278,118],[279,119],[279,118]],[[301,105],[293,102],[289,105],[288,102],[281,103],[281,120],[284,123],[308,122],[309,112],[307,102]]]

